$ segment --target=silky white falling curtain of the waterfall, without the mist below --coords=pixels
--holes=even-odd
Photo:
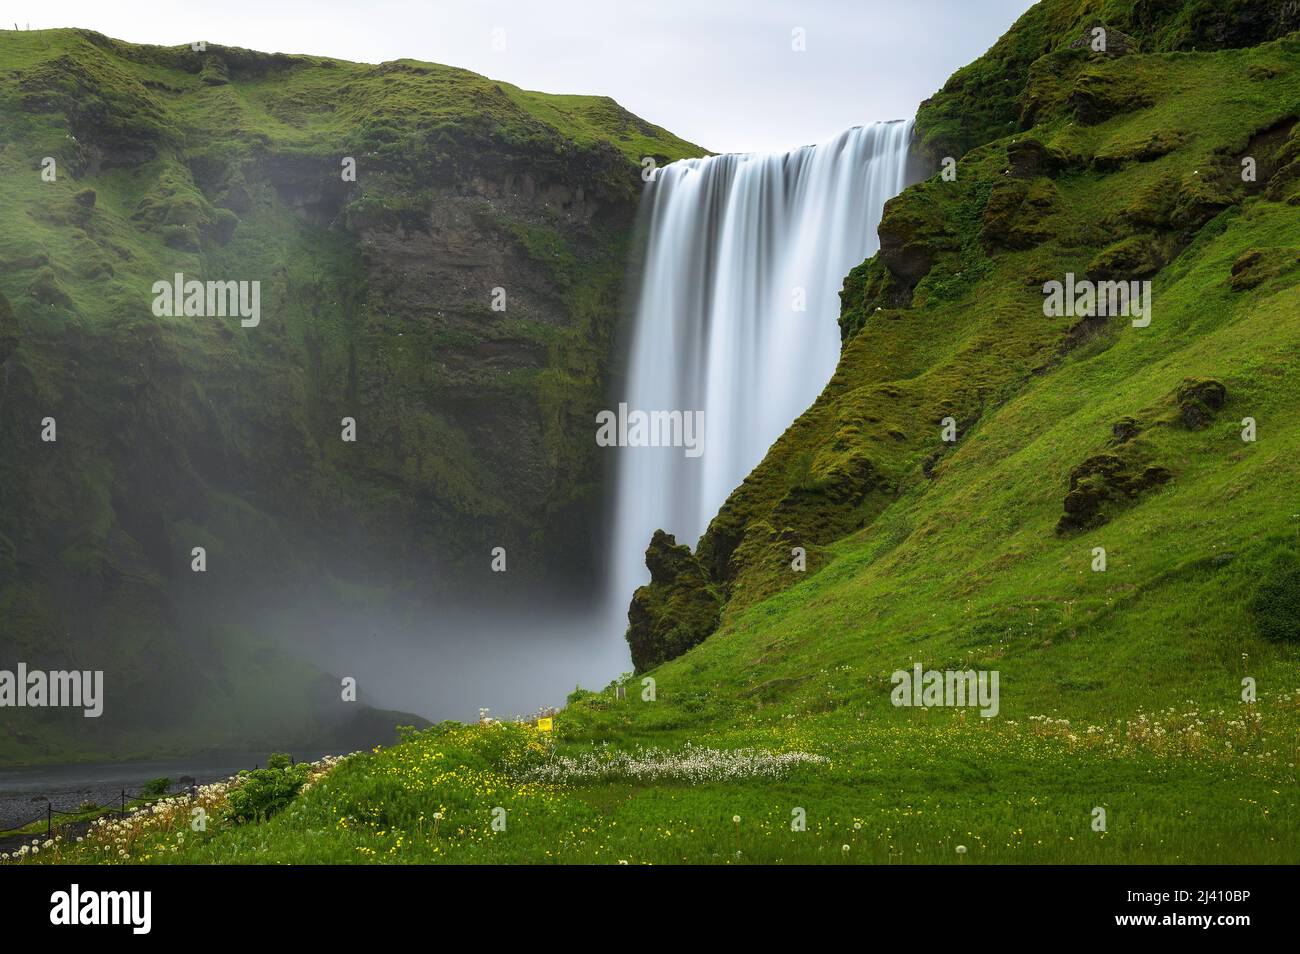
[[[829,381],[844,277],[878,248],[884,204],[907,185],[910,140],[910,121],[859,126],[785,153],[672,162],[647,185],[619,402],[629,415],[702,411],[703,452],[620,448],[610,567],[618,610],[650,578],[654,530],[694,546]]]

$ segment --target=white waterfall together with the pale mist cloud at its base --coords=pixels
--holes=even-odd
[[[876,251],[885,201],[915,178],[910,139],[911,122],[861,126],[786,153],[673,162],[647,183],[627,370],[608,407],[703,411],[703,454],[603,448],[614,498],[595,606],[534,597],[525,610],[503,600],[389,619],[369,607],[317,620],[303,650],[356,677],[363,701],[432,720],[474,719],[480,707],[528,715],[629,671],[627,611],[649,580],[651,534],[662,528],[694,546],[829,381],[840,289]],[[593,421],[593,439],[595,430]]]

